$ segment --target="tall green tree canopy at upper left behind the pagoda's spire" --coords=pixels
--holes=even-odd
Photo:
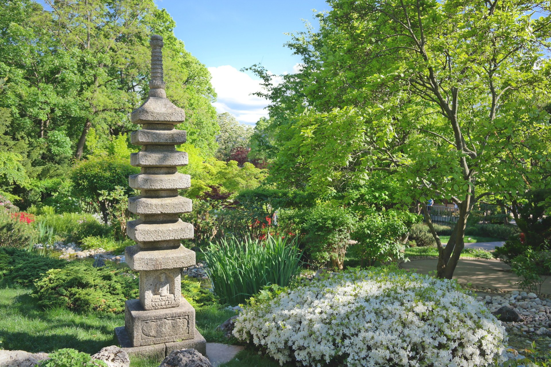
[[[46,0],[45,8],[0,0],[0,107],[10,112],[7,134],[28,145],[26,159],[43,176],[63,157],[86,154],[91,128],[105,139],[137,128],[128,114],[147,96],[153,32],[165,38],[168,97],[186,109],[180,128],[214,155],[210,74],[176,39],[166,10],[153,0]]]

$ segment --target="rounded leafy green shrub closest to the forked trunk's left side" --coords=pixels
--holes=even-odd
[[[358,244],[352,251],[361,259],[362,265],[365,265],[365,260],[369,266],[375,261],[402,260],[404,246],[399,238],[407,232],[406,224],[395,213],[371,213],[354,228],[351,237]]]

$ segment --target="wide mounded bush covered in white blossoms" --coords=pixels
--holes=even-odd
[[[280,364],[478,367],[499,361],[506,341],[501,323],[455,281],[394,267],[266,294],[247,302],[234,335]]]

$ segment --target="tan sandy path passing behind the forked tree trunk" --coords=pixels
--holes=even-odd
[[[437,259],[412,260],[404,262],[404,269],[416,269],[418,273],[428,274],[436,270]],[[453,278],[462,284],[471,283],[476,288],[494,288],[502,291],[521,291],[514,285],[518,277],[510,272],[511,267],[499,260],[460,259],[457,262]],[[551,294],[551,277],[542,285],[542,293]]]

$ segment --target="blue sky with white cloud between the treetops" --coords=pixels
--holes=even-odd
[[[324,0],[157,0],[176,21],[175,35],[213,75],[218,112],[230,112],[246,124],[266,116],[266,100],[250,96],[257,78],[239,70],[261,63],[274,74],[293,73],[300,58],[284,47],[284,32],[314,22],[312,9],[328,10]]]

